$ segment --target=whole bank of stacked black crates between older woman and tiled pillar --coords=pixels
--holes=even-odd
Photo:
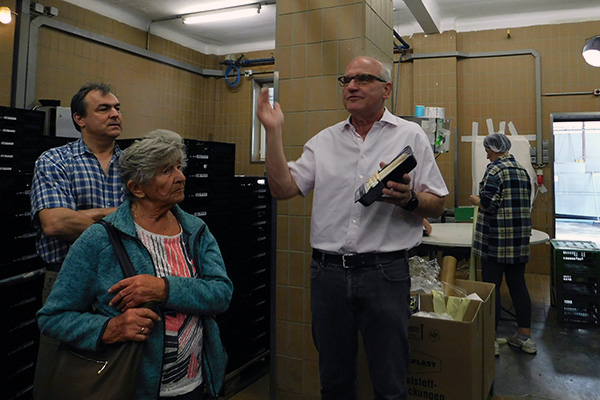
[[[119,140],[126,148],[134,139]],[[215,236],[234,292],[217,316],[229,355],[226,395],[269,370],[274,200],[264,177],[235,176],[235,145],[185,139],[185,200]]]

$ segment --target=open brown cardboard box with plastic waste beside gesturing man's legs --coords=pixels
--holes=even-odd
[[[487,399],[496,375],[494,357],[494,285],[456,280],[456,286],[477,293],[463,321],[411,317],[411,359],[406,376],[408,398]],[[431,295],[421,296],[421,310],[432,311]],[[359,399],[372,399],[364,348],[359,350]]]

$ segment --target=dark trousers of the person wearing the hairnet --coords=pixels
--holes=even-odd
[[[506,275],[506,285],[515,306],[517,326],[519,328],[531,327],[531,297],[525,283],[526,265],[526,263],[502,264],[492,260],[481,260],[481,278],[484,282],[496,285],[496,329],[498,329],[498,319],[502,310],[500,286],[503,274]]]

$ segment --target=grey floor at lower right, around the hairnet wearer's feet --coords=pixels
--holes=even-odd
[[[550,305],[547,276],[527,276],[533,301],[532,336],[537,354],[504,344],[496,358],[494,399],[592,400],[600,399],[600,328],[563,327]],[[548,288],[548,291],[545,290]],[[503,289],[503,307],[512,312]],[[503,311],[498,337],[512,335],[517,324]]]

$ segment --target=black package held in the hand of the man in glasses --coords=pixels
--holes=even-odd
[[[354,202],[370,206],[383,195],[388,181],[402,182],[404,174],[417,166],[417,160],[410,146],[406,146],[389,164],[380,169],[354,193]]]

